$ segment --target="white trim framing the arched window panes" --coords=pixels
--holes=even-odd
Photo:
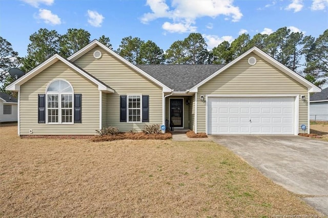
[[[48,92],[48,88],[50,86],[51,83],[55,82],[55,81],[58,81],[58,80],[61,80],[61,81],[65,81],[67,82],[70,86],[71,86],[71,89],[72,89],[72,92],[67,92],[67,93],[58,93],[58,92]],[[69,123],[63,123],[61,122],[61,95],[72,95],[72,122],[69,122]],[[57,123],[54,123],[54,122],[48,122],[48,95],[58,95],[58,122]],[[47,89],[46,89],[46,96],[45,96],[45,110],[46,110],[46,124],[49,124],[49,125],[71,125],[71,124],[74,124],[74,89],[73,89],[73,86],[72,84],[67,81],[66,79],[54,79],[52,80],[51,82],[48,83],[47,85]]]

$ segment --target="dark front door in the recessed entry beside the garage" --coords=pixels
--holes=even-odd
[[[174,127],[183,127],[183,99],[170,99],[170,118]]]

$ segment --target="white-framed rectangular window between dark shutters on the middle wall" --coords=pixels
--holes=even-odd
[[[128,95],[128,122],[138,123],[141,118],[141,95]]]

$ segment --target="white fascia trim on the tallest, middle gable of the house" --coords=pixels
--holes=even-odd
[[[123,57],[121,57],[116,52],[114,52],[113,50],[111,50],[107,46],[103,45],[103,43],[99,42],[96,39],[93,40],[93,41],[91,41],[89,43],[89,45],[87,45],[83,49],[79,50],[78,52],[74,53],[72,56],[68,57],[67,59],[70,60],[70,61],[74,61],[74,60],[76,60],[80,56],[84,55],[85,53],[87,53],[88,51],[90,51],[91,49],[93,49],[96,46],[99,46],[100,48],[104,49],[109,54],[113,55],[114,57],[116,57],[117,59],[119,59],[120,61],[122,61],[123,63],[127,64],[127,66],[129,66],[130,68],[132,68],[133,70],[135,70],[136,72],[138,72],[139,74],[141,74],[142,76],[146,77],[150,81],[152,81],[155,84],[157,84],[158,86],[160,86],[163,89],[163,92],[171,92],[172,91],[172,89],[170,89],[168,86],[166,86],[165,84],[161,83],[160,81],[158,81],[154,77],[150,76],[145,71],[142,71],[140,68],[136,67],[133,63],[127,61],[126,59],[124,59]]]

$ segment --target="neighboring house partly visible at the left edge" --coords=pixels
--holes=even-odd
[[[0,123],[17,122],[17,99],[0,92]]]

